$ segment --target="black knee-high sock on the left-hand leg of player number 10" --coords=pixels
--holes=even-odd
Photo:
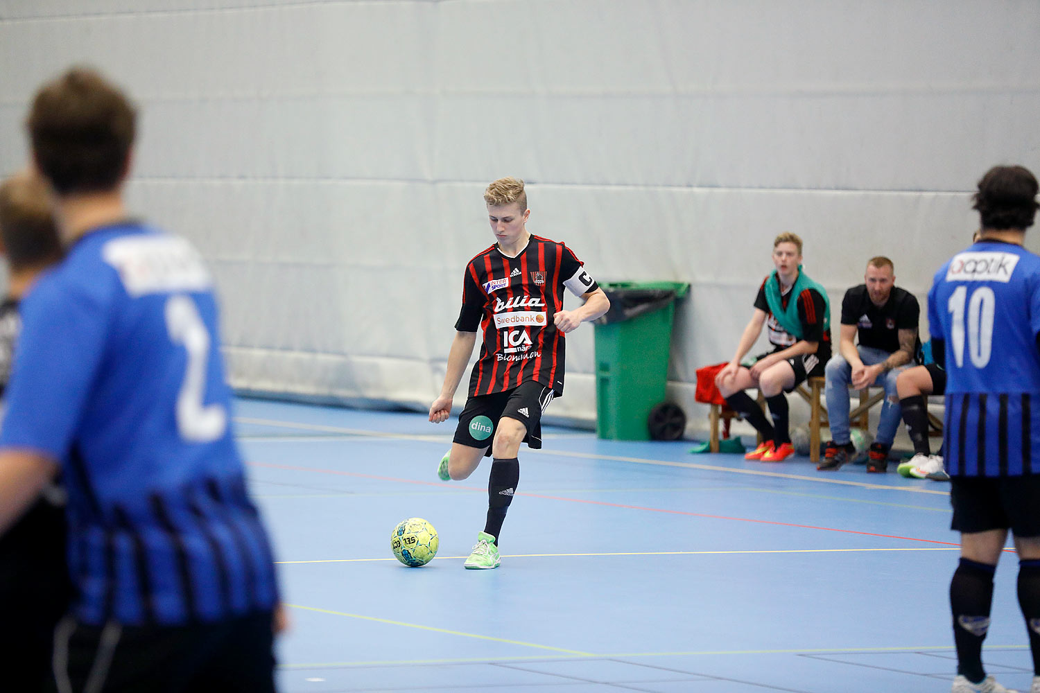
[[[950,582],[950,607],[954,613],[954,644],[957,645],[957,673],[972,683],[986,677],[982,668],[982,641],[989,630],[993,604],[995,565],[962,558]]]

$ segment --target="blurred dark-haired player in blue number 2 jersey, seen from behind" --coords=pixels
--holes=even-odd
[[[66,258],[21,305],[0,430],[0,532],[58,464],[76,594],[58,691],[274,691],[278,587],[232,435],[212,279],[185,239],[128,217],[135,112],[98,73],[27,125]]]

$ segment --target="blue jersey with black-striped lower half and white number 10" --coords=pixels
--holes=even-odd
[[[944,341],[950,473],[1040,473],[1040,258],[974,243],[936,272],[928,319]]]

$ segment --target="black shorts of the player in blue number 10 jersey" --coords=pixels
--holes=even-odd
[[[1015,536],[1040,536],[1040,476],[954,477],[951,529],[965,534],[1010,529]]]

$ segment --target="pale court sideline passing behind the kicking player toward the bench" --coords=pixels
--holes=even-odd
[[[268,419],[236,418],[236,422],[244,424],[262,424],[266,426],[283,426],[287,428],[300,428],[304,430],[328,431],[335,433],[345,433],[348,435],[367,435],[382,438],[399,438],[401,441],[424,441],[430,443],[444,443],[446,436],[443,435],[419,435],[415,433],[387,433],[384,431],[369,431],[360,428],[341,428],[339,426],[326,426],[323,424],[295,424],[290,422],[271,421]],[[885,484],[868,483],[866,481],[849,481],[847,479],[832,479],[826,476],[802,476],[801,474],[784,474],[783,472],[765,472],[764,470],[743,470],[734,467],[720,467],[718,464],[700,464],[698,462],[673,462],[664,459],[647,459],[644,457],[627,457],[622,455],[601,455],[590,452],[570,452],[566,450],[530,450],[528,452],[542,455],[557,455],[561,457],[575,457],[578,459],[603,459],[617,462],[635,462],[636,464],[654,464],[656,467],[678,467],[687,470],[703,470],[706,472],[725,472],[728,474],[745,474],[756,477],[772,477],[775,479],[796,479],[799,481],[811,481],[813,483],[837,484],[840,486],[856,486],[859,488],[875,488],[879,490],[896,490],[911,494],[931,494],[934,496],[948,496],[948,490],[933,490],[931,488],[920,488],[919,486],[888,486]]]

